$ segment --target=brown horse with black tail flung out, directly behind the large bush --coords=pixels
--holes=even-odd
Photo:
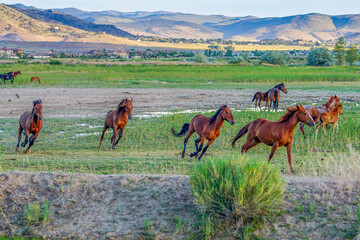
[[[186,135],[186,138],[184,140],[184,150],[181,154],[181,157],[184,158],[185,156],[185,149],[186,149],[186,143],[188,142],[191,135],[196,132],[199,135],[199,138],[195,140],[195,147],[196,151],[190,154],[190,157],[197,157],[199,152],[202,150],[203,145],[205,144],[206,139],[208,140],[208,143],[206,144],[206,147],[203,149],[199,160],[204,155],[206,150],[210,147],[210,145],[215,141],[215,139],[220,135],[220,129],[222,125],[224,124],[224,121],[228,121],[231,125],[235,123],[234,117],[231,113],[230,108],[228,108],[226,105],[221,106],[219,110],[215,113],[212,117],[207,117],[204,115],[196,115],[189,123],[185,123],[182,126],[182,129],[180,132],[176,132],[174,128],[172,129],[172,133],[175,137],[180,137]],[[198,144],[200,143],[200,147]]]

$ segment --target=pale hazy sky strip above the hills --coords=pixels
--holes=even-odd
[[[3,0],[13,4],[17,1]],[[288,16],[303,13],[359,14],[359,0],[25,0],[25,5],[39,8],[75,7],[101,11],[172,11],[227,16]]]

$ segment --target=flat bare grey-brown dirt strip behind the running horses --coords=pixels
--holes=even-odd
[[[32,101],[42,99],[44,117],[103,117],[124,97],[134,98],[134,117],[156,112],[217,109],[227,104],[232,109],[252,108],[254,90],[204,89],[126,89],[126,88],[9,88],[0,89],[0,117],[19,117],[31,109]],[[329,91],[298,91],[282,94],[280,108],[296,103],[325,103]],[[360,101],[358,93],[347,93],[346,99]],[[264,106],[264,104],[263,104]]]

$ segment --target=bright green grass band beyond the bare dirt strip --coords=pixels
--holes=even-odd
[[[22,75],[14,83],[18,87],[39,87],[30,84],[30,78],[38,76],[41,87],[244,89],[285,82],[299,89],[341,87],[344,91],[360,92],[360,67],[108,64],[13,63],[2,64],[0,73],[21,70]],[[0,87],[9,87],[9,84]]]

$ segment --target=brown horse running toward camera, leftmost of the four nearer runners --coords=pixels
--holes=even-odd
[[[31,146],[34,144],[36,138],[39,136],[40,130],[43,125],[42,109],[42,101],[39,99],[33,102],[33,109],[31,112],[27,111],[21,115],[19,121],[19,138],[15,152],[19,150],[22,132],[24,132],[25,134],[25,141],[21,144],[22,147],[26,146],[26,144],[28,143],[29,135],[32,134],[29,139],[29,147],[24,150],[23,153],[27,153],[28,151],[30,151]]]

